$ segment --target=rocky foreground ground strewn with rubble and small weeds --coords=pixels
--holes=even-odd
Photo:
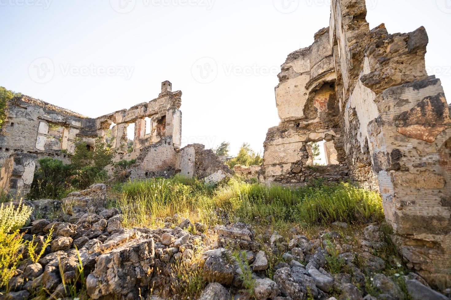
[[[282,236],[176,215],[163,228],[124,228],[120,211],[105,208],[104,184],[26,204],[34,213],[24,238],[53,240],[37,263],[19,265],[2,299],[451,299],[415,273],[396,273],[401,262],[384,256],[377,224]]]

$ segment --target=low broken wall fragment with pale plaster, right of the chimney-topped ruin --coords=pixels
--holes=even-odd
[[[190,144],[179,150],[180,175],[218,182],[233,172],[211,149],[202,144]]]

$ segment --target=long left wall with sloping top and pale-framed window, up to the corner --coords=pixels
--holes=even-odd
[[[75,139],[93,145],[96,122],[86,116],[21,95],[10,99],[0,128],[0,164],[15,151],[66,160],[61,150],[72,152]]]

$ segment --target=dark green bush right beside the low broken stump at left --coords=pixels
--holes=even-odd
[[[70,165],[65,165],[59,159],[50,157],[41,158],[39,168],[34,174],[29,199],[62,199],[69,193],[68,178],[72,174]]]

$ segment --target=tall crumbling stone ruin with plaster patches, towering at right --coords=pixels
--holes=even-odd
[[[330,26],[282,65],[281,124],[264,143],[264,180],[341,176],[380,191],[408,265],[450,287],[451,120],[440,80],[426,72],[428,36],[423,27],[370,30],[365,17],[364,0],[331,1]],[[308,143],[320,140],[330,164],[312,170]]]

